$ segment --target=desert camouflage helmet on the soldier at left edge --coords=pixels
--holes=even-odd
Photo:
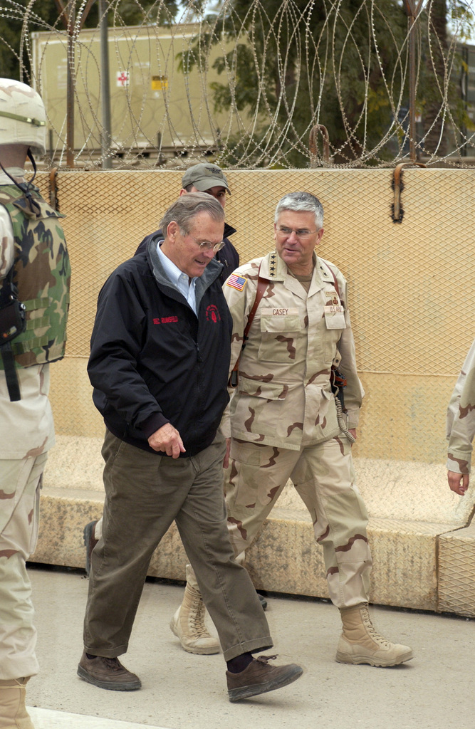
[[[15,79],[0,78],[0,144],[27,144],[46,152],[46,112],[39,93]]]

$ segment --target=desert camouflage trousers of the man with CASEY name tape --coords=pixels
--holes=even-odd
[[[367,602],[373,564],[368,515],[355,486],[347,438],[334,437],[300,451],[232,440],[229,463],[225,498],[236,560],[244,558],[290,478],[323,547],[331,601],[336,607]],[[190,583],[196,585],[193,578]]]

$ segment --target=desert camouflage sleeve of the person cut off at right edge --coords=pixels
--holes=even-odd
[[[475,435],[475,341],[458,375],[447,408],[447,470],[470,473]]]

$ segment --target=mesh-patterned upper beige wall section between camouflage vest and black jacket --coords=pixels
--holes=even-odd
[[[161,215],[178,197],[181,179],[181,172],[58,175],[72,265],[67,356],[88,356],[101,286],[158,228]]]

